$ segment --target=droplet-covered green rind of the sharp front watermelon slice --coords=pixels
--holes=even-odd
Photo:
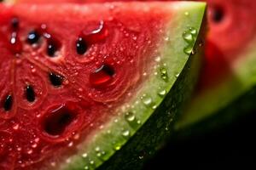
[[[205,8],[206,3],[177,3],[176,8],[170,8],[176,14],[166,29],[169,40],[163,41],[165,44],[160,49],[160,68],[165,67],[168,82],[160,77],[160,69],[158,69],[158,76],[151,77],[147,86],[143,87],[129,103],[132,105],[132,109],[124,108],[120,115],[114,116],[102,128],[96,129],[96,132],[88,137],[90,138],[89,142],[79,144],[79,153],[61,162],[59,169],[95,169],[105,161],[107,163],[104,163],[102,169],[114,169],[114,167],[129,169],[134,166],[136,168],[139,165],[138,161],[142,160],[140,156],[136,157],[137,154],[140,154],[140,150],[146,148],[148,148],[147,150],[157,150],[160,147],[161,142],[165,141],[172,133],[166,129],[172,129],[174,116],[182,110],[183,103],[191,93],[196,80],[201,63],[201,53],[198,52],[189,58],[189,55],[183,52],[183,48],[188,46],[188,43],[183,39],[183,32],[188,31],[191,27],[197,31],[201,29]],[[195,45],[195,42],[193,44]],[[180,75],[177,77],[179,73]],[[163,97],[158,95],[160,88],[168,92],[163,102],[161,102]],[[141,99],[143,94],[146,94],[147,97],[150,96],[154,105],[150,105],[150,107],[144,105]],[[136,123],[134,121],[128,122],[127,115],[125,116],[131,110],[136,115]],[[148,119],[152,114],[153,116]],[[153,126],[154,124],[155,126]],[[150,127],[150,131],[144,126]],[[140,127],[143,128],[137,134],[136,132]],[[144,134],[148,135],[143,137]],[[128,139],[131,141],[127,142]],[[125,149],[123,149],[124,145]],[[127,148],[134,148],[134,150],[131,149],[127,152]],[[150,155],[149,152],[154,153],[154,151],[148,151],[148,156]],[[108,161],[111,156],[116,159],[115,163],[111,163],[113,159]],[[127,160],[116,156],[124,156],[124,159]],[[134,159],[137,165],[131,165]],[[122,166],[125,162],[127,163]]]

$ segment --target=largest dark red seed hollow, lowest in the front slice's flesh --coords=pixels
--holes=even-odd
[[[52,136],[59,136],[65,132],[67,127],[75,120],[76,115],[69,111],[66,105],[50,111],[44,118],[44,131]]]

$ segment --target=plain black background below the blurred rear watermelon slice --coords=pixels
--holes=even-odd
[[[256,169],[256,111],[227,127],[172,141],[144,170]]]

